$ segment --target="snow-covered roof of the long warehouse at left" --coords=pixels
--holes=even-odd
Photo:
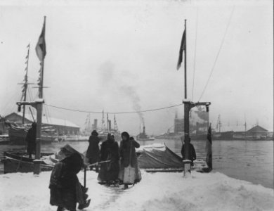
[[[22,112],[16,113],[17,115],[20,115],[22,117]],[[25,114],[25,119],[33,121],[32,115],[30,114]],[[36,116],[34,116],[34,119],[36,119]],[[73,122],[70,122],[69,120],[61,120],[53,117],[42,117],[42,123],[44,124],[53,124],[53,125],[60,125],[60,126],[67,126],[67,127],[78,127],[79,125],[74,124]]]

